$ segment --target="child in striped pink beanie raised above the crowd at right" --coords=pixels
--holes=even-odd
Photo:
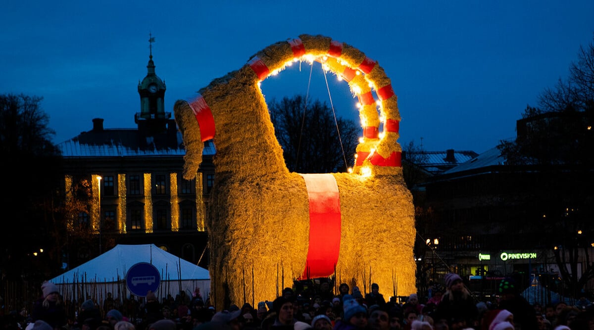
[[[450,329],[470,328],[478,323],[478,309],[475,301],[456,273],[446,274],[444,283],[447,290],[435,307],[435,322],[445,322]]]

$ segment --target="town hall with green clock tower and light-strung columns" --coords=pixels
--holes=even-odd
[[[88,226],[95,242],[70,247],[75,266],[116,244],[153,243],[187,261],[207,266],[204,210],[214,183],[214,145],[207,141],[204,161],[192,180],[182,177],[185,149],[175,119],[165,111],[166,85],[155,73],[152,52],[147,75],[138,84],[136,128],[93,128],[58,145],[64,157],[67,202],[88,186],[86,210],[73,224]]]

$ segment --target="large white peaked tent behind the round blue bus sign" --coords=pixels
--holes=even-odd
[[[203,299],[210,292],[207,269],[178,258],[154,244],[116,245],[97,258],[52,278],[50,282],[58,286],[67,300],[91,296],[100,302],[108,292],[112,293],[114,299],[124,299],[131,294],[126,285],[126,273],[139,262],[147,262],[159,271],[161,284],[155,294],[160,301],[168,294],[175,298],[180,291],[191,296],[195,288],[200,288]]]

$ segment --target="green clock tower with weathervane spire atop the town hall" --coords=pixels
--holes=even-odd
[[[138,82],[140,112],[134,116],[134,122],[138,124],[138,128],[146,129],[149,134],[166,131],[169,120],[174,120],[170,119],[170,112],[165,112],[165,81],[157,77],[154,72],[153,42],[154,37],[149,34],[150,53],[147,75]]]

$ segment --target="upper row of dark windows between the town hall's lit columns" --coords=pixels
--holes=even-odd
[[[156,174],[154,176],[154,191],[155,195],[166,195],[168,193],[168,175],[166,174]],[[142,184],[143,176],[132,174],[127,177],[127,184],[128,184],[128,195],[143,195],[143,184]],[[213,188],[214,185],[214,174],[206,174],[206,186],[205,191],[203,193],[210,193],[210,190]],[[103,196],[115,196],[116,195],[116,187],[115,187],[115,178],[114,176],[106,175],[103,176],[102,180],[102,195]],[[192,194],[195,193],[195,185],[194,180],[185,180],[181,179],[179,181],[179,193],[184,194]]]

